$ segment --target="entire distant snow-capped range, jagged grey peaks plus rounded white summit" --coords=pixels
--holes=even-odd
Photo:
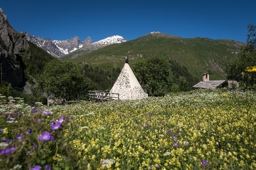
[[[91,45],[94,46],[94,48],[95,46],[99,46],[99,48],[102,48],[103,46],[107,46],[110,44],[122,43],[127,41],[119,35],[107,37],[105,39],[92,43],[91,37],[87,37],[85,41],[80,41],[79,37],[77,36],[67,40],[51,40],[49,38],[45,39],[41,37],[35,37],[28,33],[26,33],[26,39],[33,42],[38,47],[47,51],[49,54],[53,55],[56,58],[61,58],[66,54],[76,51],[77,49],[85,48]]]

